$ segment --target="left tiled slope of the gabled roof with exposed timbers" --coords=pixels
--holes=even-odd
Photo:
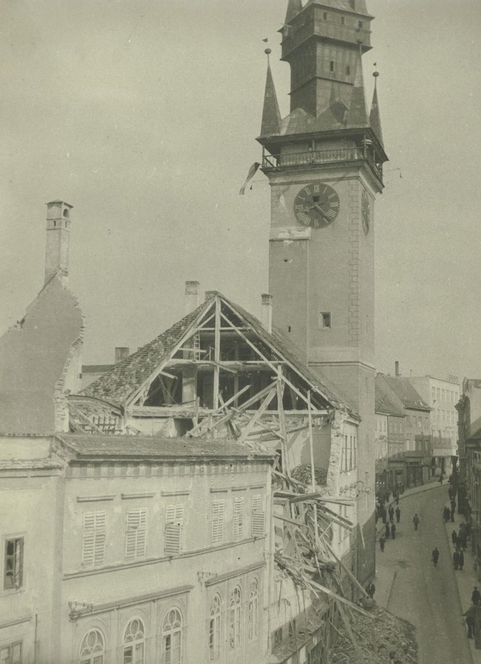
[[[173,347],[180,341],[185,331],[194,323],[197,317],[204,311],[207,303],[213,299],[212,293],[209,300],[188,313],[172,327],[165,330],[153,341],[142,346],[136,353],[132,353],[124,361],[114,365],[108,373],[99,376],[97,380],[86,386],[80,394],[95,396],[120,404],[142,385],[144,380],[150,376],[156,367],[169,355]]]

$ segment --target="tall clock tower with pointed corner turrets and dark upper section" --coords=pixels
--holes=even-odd
[[[368,114],[363,84],[372,19],[365,0],[288,1],[280,33],[290,114],[280,117],[268,64],[258,137],[271,188],[272,325],[362,418],[361,582],[375,560],[374,201],[387,161],[377,91]]]

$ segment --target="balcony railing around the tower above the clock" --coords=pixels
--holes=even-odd
[[[345,161],[367,161],[382,179],[383,165],[376,161],[368,147],[343,147],[335,150],[310,150],[308,152],[282,153],[262,156],[262,168],[278,169],[289,166],[311,166]]]

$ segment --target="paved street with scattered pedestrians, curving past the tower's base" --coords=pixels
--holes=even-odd
[[[451,551],[444,531],[442,507],[446,485],[403,498],[396,539],[386,542],[385,554],[377,548],[379,572],[394,571],[387,608],[417,627],[419,664],[471,664],[472,658],[454,580]],[[414,531],[413,516],[421,518]],[[431,552],[440,551],[438,566]]]

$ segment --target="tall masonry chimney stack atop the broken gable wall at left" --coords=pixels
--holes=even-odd
[[[70,210],[64,201],[47,203],[47,244],[45,248],[45,284],[56,274],[66,280],[68,276],[68,249],[70,244]]]

